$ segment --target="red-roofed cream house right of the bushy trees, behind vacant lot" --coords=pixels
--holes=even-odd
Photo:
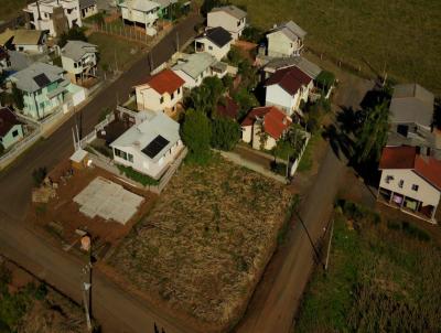
[[[241,139],[254,149],[271,150],[288,131],[292,120],[277,107],[252,109],[241,122]]]

